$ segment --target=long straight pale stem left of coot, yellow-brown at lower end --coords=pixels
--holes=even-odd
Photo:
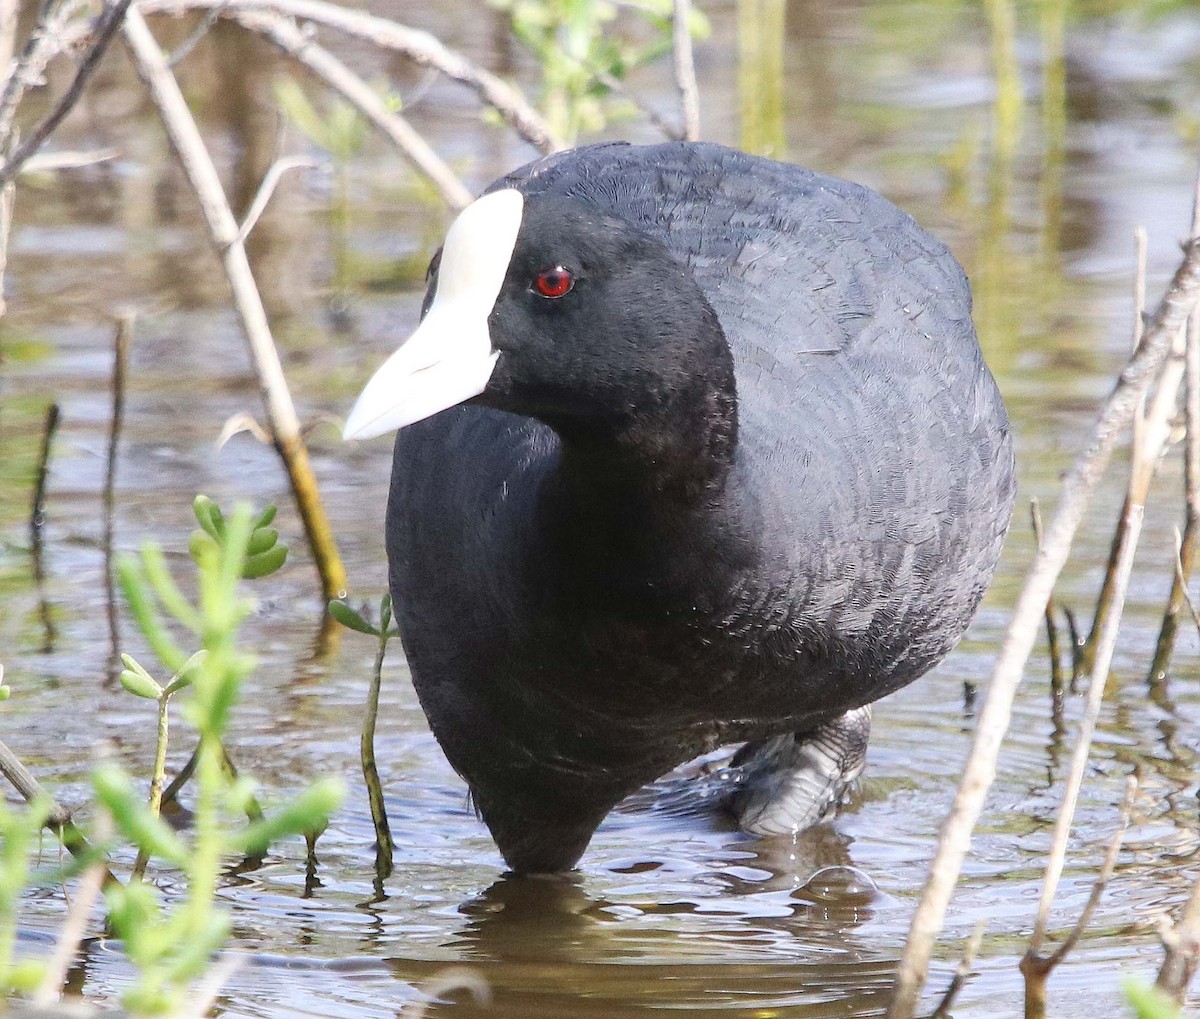
[[[192,190],[199,199],[212,246],[233,289],[234,305],[241,318],[263,401],[266,404],[275,448],[287,468],[308,545],[320,571],[324,595],[326,599],[336,598],[346,589],[346,568],[342,565],[334,533],[320,503],[317,479],[312,473],[308,451],[300,434],[300,420],[292,403],[287,379],[283,377],[278,350],[275,348],[263,300],[254,284],[250,260],[246,258],[246,248],[236,240],[238,223],[229,209],[212,158],[200,138],[199,128],[187,109],[187,103],[184,102],[170,68],[167,67],[162,49],[137,7],[131,7],[125,18],[125,38],[138,73],[150,89],[172,145],[179,154]]]

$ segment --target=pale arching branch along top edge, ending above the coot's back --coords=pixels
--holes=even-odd
[[[221,7],[226,16],[263,11],[325,25],[401,53],[413,62],[436,68],[448,78],[466,85],[535,149],[553,152],[563,148],[562,142],[553,137],[550,125],[517,89],[482,67],[475,66],[428,32],[410,29],[388,18],[353,11],[326,0],[140,0],[138,7],[144,13],[181,13],[188,10]]]

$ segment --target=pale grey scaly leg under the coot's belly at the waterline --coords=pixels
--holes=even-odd
[[[744,832],[785,835],[827,816],[862,774],[871,706],[854,708],[809,732],[746,743],[731,767],[742,772],[730,807]]]

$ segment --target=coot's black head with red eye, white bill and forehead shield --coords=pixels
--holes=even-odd
[[[658,238],[566,196],[505,190],[468,206],[431,265],[420,329],[347,432],[466,400],[641,460],[727,461],[736,440],[732,355],[691,272]]]

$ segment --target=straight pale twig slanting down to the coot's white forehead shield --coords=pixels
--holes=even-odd
[[[437,187],[451,209],[470,204],[474,196],[442,157],[403,116],[388,108],[383,97],[328,49],[278,14],[244,11],[234,16],[242,26],[259,32],[299,60],[330,88],[341,92],[378,127],[404,157]]]

